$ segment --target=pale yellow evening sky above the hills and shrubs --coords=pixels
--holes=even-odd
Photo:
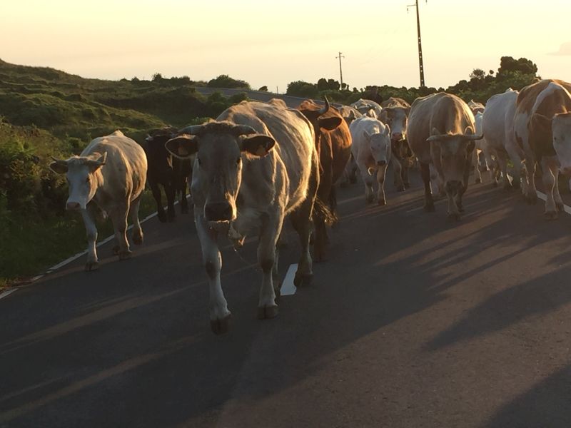
[[[220,74],[285,92],[291,81],[418,86],[414,0],[6,1],[0,58],[89,78]],[[501,56],[571,81],[569,0],[419,0],[425,83],[448,87]],[[408,9],[408,11],[407,11]]]

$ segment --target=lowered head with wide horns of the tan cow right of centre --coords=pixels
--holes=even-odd
[[[426,140],[430,143],[430,155],[435,167],[443,175],[444,187],[449,193],[457,193],[467,184],[464,183],[464,175],[470,165],[475,140],[483,138],[473,132],[471,126],[467,126],[461,134],[443,134],[433,128],[432,135]]]

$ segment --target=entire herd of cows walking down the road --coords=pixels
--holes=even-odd
[[[92,208],[111,217],[119,259],[131,257],[126,229],[133,222],[133,243],[143,242],[138,205],[147,182],[162,222],[175,217],[174,200],[188,211],[186,183],[191,183],[194,219],[210,289],[213,332],[228,330],[231,312],[221,287],[218,237],[239,247],[257,235],[262,285],[258,317],[278,314],[276,280],[278,241],[290,218],[299,235],[301,253],[296,286],[313,276],[313,258],[323,260],[328,242],[326,224],[335,221],[335,184],[355,182],[357,170],[365,199],[386,203],[384,181],[389,164],[399,191],[410,185],[408,170],[420,167],[426,211],[434,210],[433,194],[448,198],[448,217],[458,220],[462,196],[474,166],[492,168],[495,183],[521,187],[535,203],[534,174],[542,171],[547,193],[545,217],[556,218],[563,204],[557,188],[559,170],[571,174],[571,84],[542,80],[519,93],[508,89],[485,106],[465,103],[449,93],[417,98],[412,106],[400,98],[380,105],[359,100],[335,108],[303,101],[288,108],[279,99],[243,101],[214,121],[181,130],[153,131],[143,146],[116,131],[95,138],[80,156],[56,160],[51,168],[65,173],[68,210],[79,210],[88,238],[86,270],[97,268],[97,230]],[[482,161],[477,152],[482,153]],[[514,168],[507,175],[507,158]],[[161,203],[164,186],[167,212]],[[93,201],[94,203],[90,203]]]

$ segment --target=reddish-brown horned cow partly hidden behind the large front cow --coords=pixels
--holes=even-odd
[[[327,230],[325,219],[328,214],[334,217],[337,208],[335,182],[343,175],[351,156],[351,135],[349,127],[338,110],[329,105],[321,107],[313,101],[303,101],[298,106],[303,116],[309,119],[315,131],[315,148],[320,161],[318,200],[315,208],[315,260],[324,259]]]

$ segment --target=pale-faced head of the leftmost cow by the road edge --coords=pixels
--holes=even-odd
[[[59,174],[66,174],[69,185],[67,210],[85,210],[101,182],[101,166],[105,165],[107,153],[92,153],[90,156],[74,156],[67,160],[54,159],[49,167]]]

